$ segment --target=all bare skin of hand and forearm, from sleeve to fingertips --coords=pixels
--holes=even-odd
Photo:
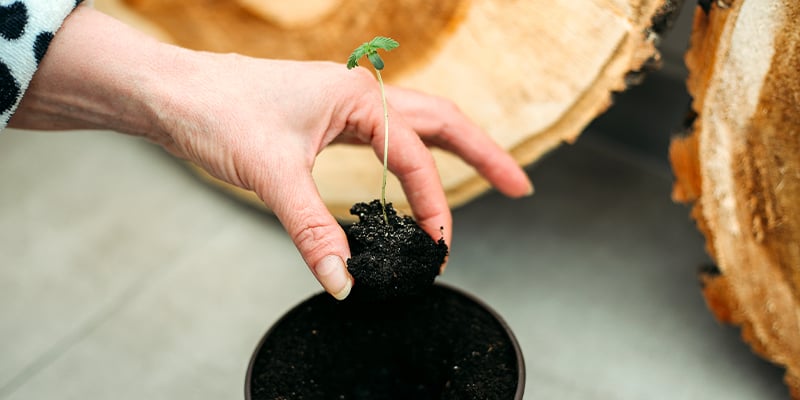
[[[365,68],[179,48],[79,6],[53,39],[9,126],[141,136],[254,191],[322,287],[343,299],[353,286],[345,267],[350,250],[311,170],[334,142],[369,145],[382,158],[377,85]],[[426,145],[460,156],[507,196],[532,193],[524,171],[452,102],[391,86],[387,98],[389,169],[433,238],[444,234],[451,243],[452,217]]]

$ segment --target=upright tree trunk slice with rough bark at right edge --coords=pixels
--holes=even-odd
[[[716,316],[785,366],[800,399],[800,2],[698,8],[686,55],[697,118],[673,141],[673,197],[693,203],[718,270]]]

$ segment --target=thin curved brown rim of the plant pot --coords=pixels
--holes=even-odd
[[[490,307],[485,301],[479,299],[478,297],[476,297],[475,295],[467,292],[466,290],[458,288],[456,286],[453,286],[452,284],[442,283],[442,282],[436,282],[436,283],[434,283],[434,285],[435,286],[439,286],[442,289],[449,290],[450,292],[453,292],[453,293],[455,293],[457,295],[460,295],[460,296],[466,298],[467,300],[472,301],[475,305],[483,308],[486,312],[488,312],[489,315],[491,315],[492,318],[494,318],[495,321],[497,321],[497,323],[500,325],[500,327],[503,328],[503,331],[506,333],[506,335],[508,336],[508,339],[511,341],[511,345],[514,348],[514,354],[517,357],[517,390],[514,393],[514,399],[515,400],[521,400],[523,394],[525,393],[525,358],[523,357],[522,348],[519,345],[519,341],[517,341],[517,337],[514,335],[514,332],[511,330],[511,327],[508,325],[508,323],[506,323],[506,321],[503,319],[503,317],[501,317],[500,314],[495,309]],[[250,362],[247,365],[247,375],[245,377],[245,383],[244,383],[244,397],[245,397],[245,400],[252,400],[252,398],[250,397],[250,393],[251,393],[251,383],[250,382],[252,382],[253,367],[255,365],[256,357],[258,356],[258,353],[261,351],[261,347],[264,345],[264,343],[266,343],[267,339],[272,334],[272,332],[275,329],[275,327],[280,325],[281,322],[283,322],[289,316],[289,314],[291,314],[291,312],[294,309],[296,309],[297,307],[300,307],[302,304],[304,304],[308,300],[316,297],[317,295],[319,295],[321,293],[323,293],[323,292],[315,293],[315,294],[309,296],[305,300],[297,303],[294,307],[290,308],[285,313],[283,313],[283,315],[281,315],[281,317],[278,318],[278,320],[275,321],[270,326],[270,328],[267,330],[267,332],[264,333],[264,335],[258,341],[258,344],[256,345],[255,349],[253,350],[253,354],[250,356]]]

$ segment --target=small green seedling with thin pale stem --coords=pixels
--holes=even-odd
[[[383,59],[378,54],[378,49],[390,51],[400,46],[396,40],[376,36],[369,42],[362,43],[358,46],[350,58],[347,59],[347,69],[353,69],[358,66],[358,60],[367,56],[367,59],[375,68],[375,75],[378,77],[378,83],[381,87],[381,100],[383,100],[383,183],[381,184],[381,206],[383,208],[383,220],[389,224],[389,217],[386,216],[386,175],[388,169],[388,155],[389,155],[389,108],[386,106],[386,91],[383,88],[383,78],[381,78],[381,70],[383,70]]]

